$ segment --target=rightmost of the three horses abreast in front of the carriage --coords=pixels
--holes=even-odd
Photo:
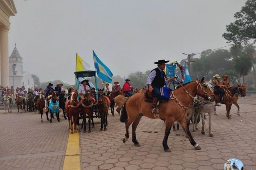
[[[108,125],[108,108],[109,103],[106,97],[103,95],[102,91],[98,92],[98,104],[99,108],[99,114],[100,114],[100,122],[101,122],[101,128],[100,131],[103,129],[104,124],[104,130],[107,130],[106,125]]]

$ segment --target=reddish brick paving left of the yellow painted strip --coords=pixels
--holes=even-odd
[[[61,170],[68,123],[39,114],[0,111],[0,170]]]

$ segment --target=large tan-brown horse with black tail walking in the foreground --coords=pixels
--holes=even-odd
[[[189,104],[192,102],[192,99],[196,95],[204,97],[204,99],[214,100],[215,96],[209,87],[202,83],[201,81],[194,81],[177,88],[175,91],[170,93],[170,99],[168,102],[161,102],[159,105],[160,114],[153,115],[151,114],[151,105],[150,102],[145,102],[144,94],[134,94],[131,96],[124,105],[122,110],[122,115],[120,117],[121,122],[125,122],[125,138],[123,142],[126,142],[129,138],[129,126],[132,124],[132,142],[135,146],[140,146],[139,142],[136,139],[136,128],[140,122],[142,116],[147,116],[151,119],[161,119],[166,121],[166,130],[165,136],[163,139],[163,148],[164,151],[170,152],[170,149],[167,145],[168,136],[172,128],[173,122],[177,121],[180,123],[181,127],[188,136],[190,143],[195,147],[196,150],[201,149],[201,147],[194,141],[189,127],[186,121],[186,109]]]

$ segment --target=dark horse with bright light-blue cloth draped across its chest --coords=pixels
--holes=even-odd
[[[58,122],[60,122],[59,101],[58,101],[58,92],[57,91],[52,92],[52,98],[49,101],[48,108],[49,108],[49,111],[51,114],[50,123],[52,123],[52,117],[53,117],[54,113],[56,113],[57,120],[58,120]]]

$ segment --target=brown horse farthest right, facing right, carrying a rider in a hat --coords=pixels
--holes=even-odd
[[[224,102],[226,105],[226,111],[227,111],[226,116],[228,119],[231,119],[230,109],[233,104],[233,96],[235,94],[239,94],[240,96],[244,97],[246,95],[245,85],[237,85],[237,86],[233,86],[225,89]],[[220,103],[220,96],[218,94],[215,95],[215,103]]]

